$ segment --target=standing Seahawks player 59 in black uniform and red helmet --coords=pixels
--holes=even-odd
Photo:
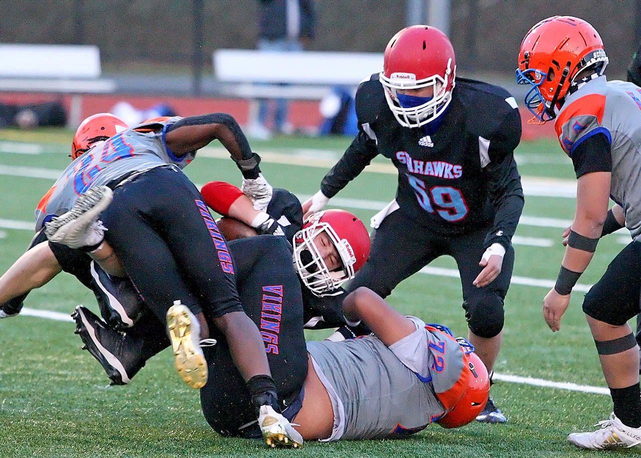
[[[396,198],[372,218],[369,260],[347,290],[365,286],[385,298],[437,257],[454,257],[469,340],[492,373],[523,208],[517,104],[500,87],[455,78],[454,49],[431,26],[394,35],[383,65],[356,92],[356,138],[303,210],[319,211],[377,155],[392,160]],[[477,420],[506,418],[490,398]]]

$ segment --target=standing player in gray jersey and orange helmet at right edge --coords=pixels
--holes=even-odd
[[[585,295],[586,314],[613,413],[595,432],[572,433],[570,443],[592,450],[641,443],[639,350],[627,321],[639,313],[641,291],[641,89],[608,81],[603,41],[588,22],[554,16],[523,38],[517,82],[529,85],[525,103],[540,123],[554,120],[561,148],[578,180],[576,213],[556,285],[544,298],[553,332],[570,302],[599,237],[625,225],[633,241]],[[616,205],[608,210],[610,198]]]

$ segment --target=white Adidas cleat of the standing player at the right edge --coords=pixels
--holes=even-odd
[[[567,440],[578,447],[589,450],[604,448],[628,448],[641,443],[641,428],[631,428],[621,423],[615,414],[608,420],[599,421],[594,432],[573,432]]]

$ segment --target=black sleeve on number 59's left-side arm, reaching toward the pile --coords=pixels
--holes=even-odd
[[[338,194],[347,183],[358,176],[363,169],[378,155],[376,143],[362,130],[345,151],[342,158],[325,175],[320,182],[320,191],[329,198]]]

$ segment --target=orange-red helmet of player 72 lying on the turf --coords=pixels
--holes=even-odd
[[[457,339],[459,343],[465,339]],[[465,341],[467,343],[467,341]],[[469,345],[469,343],[467,343]],[[458,428],[473,421],[483,411],[490,396],[490,376],[485,364],[474,352],[465,354],[465,364],[470,369],[470,378],[465,394],[454,408],[447,412],[437,423],[444,428]]]

